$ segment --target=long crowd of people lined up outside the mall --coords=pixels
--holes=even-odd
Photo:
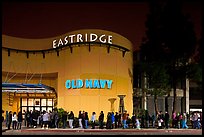
[[[191,121],[192,128],[200,129],[202,128],[202,113],[193,113],[191,116],[186,113],[172,113],[170,116],[166,111],[163,113],[159,111],[157,115],[150,116],[148,110],[145,110],[144,113],[140,115],[136,115],[133,113],[130,116],[127,111],[123,113],[119,112],[108,112],[106,119],[104,112],[101,111],[98,118],[96,117],[96,113],[92,112],[90,119],[88,116],[88,112],[79,111],[76,115],[73,111],[67,112],[63,111],[62,114],[58,112],[58,109],[54,109],[53,111],[21,111],[18,113],[10,111],[6,116],[6,125],[8,129],[10,129],[12,124],[12,129],[21,129],[22,124],[26,127],[37,128],[40,127],[42,129],[49,128],[83,128],[95,129],[96,125],[99,126],[100,129],[107,128],[158,128],[158,129],[168,129],[171,128],[189,128],[187,125],[187,121]],[[3,118],[2,118],[3,120]],[[170,121],[171,120],[171,121]],[[23,123],[24,121],[24,123]],[[62,123],[59,126],[59,123]]]

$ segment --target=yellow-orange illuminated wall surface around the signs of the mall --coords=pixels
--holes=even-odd
[[[95,111],[97,118],[100,111],[104,111],[105,115],[111,110],[110,98],[116,98],[114,103],[114,111],[119,109],[119,97],[117,95],[126,95],[124,98],[125,110],[132,115],[133,111],[133,83],[132,83],[132,44],[123,36],[105,30],[98,29],[84,29],[73,31],[58,37],[48,39],[20,39],[10,36],[2,36],[2,42],[5,47],[11,47],[18,44],[25,49],[41,49],[52,48],[52,41],[54,39],[64,38],[69,34],[106,34],[112,35],[113,44],[120,45],[129,49],[129,52],[122,56],[122,51],[110,48],[107,52],[107,47],[99,46],[97,44],[89,47],[80,45],[73,47],[72,53],[69,48],[63,49],[57,56],[56,52],[45,54],[45,58],[41,53],[30,53],[27,58],[26,53],[12,52],[8,56],[8,52],[2,50],[2,72],[18,72],[26,73],[26,68],[29,64],[32,73],[58,73],[54,80],[48,80],[44,84],[52,86],[56,89],[58,94],[58,108],[64,108],[67,111],[73,111],[75,116],[78,116],[79,110],[87,111],[89,116]],[[35,45],[36,44],[36,45]],[[29,48],[28,48],[29,47]],[[15,69],[10,69],[9,64],[12,64]],[[4,81],[5,76],[2,76]],[[66,89],[65,82],[68,79],[108,79],[113,80],[111,89]],[[15,82],[15,77],[12,79]],[[31,80],[32,81],[32,80]],[[34,83],[34,81],[32,81]],[[4,104],[4,108],[6,105]],[[15,105],[15,103],[14,103]],[[16,107],[16,106],[13,106]],[[8,107],[8,109],[10,109]]]

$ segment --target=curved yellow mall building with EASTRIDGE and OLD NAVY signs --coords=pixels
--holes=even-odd
[[[2,35],[2,45],[4,111],[133,113],[133,51],[127,38],[83,29],[46,39]]]

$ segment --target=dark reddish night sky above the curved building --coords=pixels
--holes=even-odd
[[[201,33],[201,4],[186,2],[195,31]],[[145,36],[147,1],[3,3],[2,33],[21,38],[49,38],[78,29],[104,29],[123,35],[138,49]]]

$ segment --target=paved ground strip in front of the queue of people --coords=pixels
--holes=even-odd
[[[202,129],[41,129],[4,130],[2,135],[202,135]]]

